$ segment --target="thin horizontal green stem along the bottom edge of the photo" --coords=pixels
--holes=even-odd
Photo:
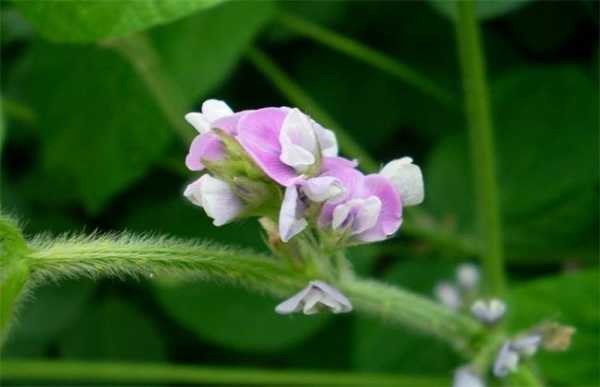
[[[9,360],[2,362],[2,379],[28,382],[116,384],[243,384],[318,386],[439,386],[436,377],[351,374],[295,370],[196,367],[152,363],[63,362]]]

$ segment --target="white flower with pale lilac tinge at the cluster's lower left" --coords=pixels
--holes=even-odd
[[[214,219],[215,226],[229,223],[244,210],[244,204],[229,184],[208,174],[188,185],[183,195],[204,208],[206,214]]]

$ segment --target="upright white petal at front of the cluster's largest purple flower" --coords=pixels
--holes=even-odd
[[[317,161],[315,156],[318,147],[314,129],[308,117],[298,109],[292,109],[283,121],[279,143],[279,159],[299,173],[303,173]]]

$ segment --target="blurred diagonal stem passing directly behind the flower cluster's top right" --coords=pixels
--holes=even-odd
[[[361,165],[369,171],[374,171],[379,164],[358,144],[346,131],[344,131],[331,116],[302,90],[290,77],[283,72],[267,55],[257,48],[250,48],[247,57],[252,64],[267,78],[279,91],[294,105],[302,108],[317,121],[332,129],[338,138],[340,147],[350,157],[360,160]]]

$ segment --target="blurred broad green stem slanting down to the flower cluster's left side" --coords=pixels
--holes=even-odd
[[[104,41],[102,44],[121,53],[137,70],[163,114],[187,147],[194,135],[183,120],[187,104],[175,82],[169,79],[168,72],[163,68],[160,57],[148,37],[144,34],[134,34]]]

